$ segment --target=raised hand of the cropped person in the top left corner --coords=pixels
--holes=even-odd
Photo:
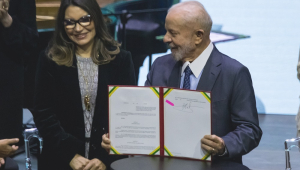
[[[12,24],[12,18],[8,14],[9,0],[0,0],[0,23],[4,27],[10,27]]]

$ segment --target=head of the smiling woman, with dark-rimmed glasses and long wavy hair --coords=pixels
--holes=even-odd
[[[88,24],[83,23],[88,18]],[[120,53],[119,46],[109,35],[97,3],[61,2],[54,37],[47,50],[47,55],[58,65],[72,66],[75,51],[81,57],[91,58],[95,64],[107,64]]]

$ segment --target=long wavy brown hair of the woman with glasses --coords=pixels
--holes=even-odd
[[[91,52],[94,63],[107,64],[120,52],[120,44],[108,33],[102,12],[96,0],[62,0],[57,14],[54,36],[46,51],[58,65],[72,66],[73,56],[76,51],[76,44],[69,39],[65,32],[64,19],[65,11],[69,6],[78,6],[91,15],[95,25],[96,36]]]

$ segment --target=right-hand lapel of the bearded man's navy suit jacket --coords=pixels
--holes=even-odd
[[[212,53],[205,64],[203,73],[197,86],[197,90],[212,91],[212,88],[221,71],[222,58],[220,52],[214,46]]]

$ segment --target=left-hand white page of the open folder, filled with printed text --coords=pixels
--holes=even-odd
[[[150,87],[112,89],[109,87],[110,153],[158,155],[158,92]],[[158,88],[156,90],[159,91]]]

